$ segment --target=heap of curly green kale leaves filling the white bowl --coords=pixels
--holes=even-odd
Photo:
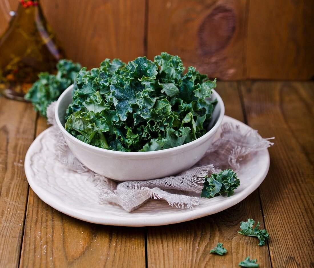
[[[97,147],[136,152],[172,148],[207,132],[217,103],[216,80],[194,67],[186,74],[178,56],[166,52],[125,64],[106,59],[82,68],[74,82],[66,130]]]

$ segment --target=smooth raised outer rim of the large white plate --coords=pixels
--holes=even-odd
[[[246,127],[252,129],[250,126],[246,125],[245,123],[226,116],[225,118],[232,123],[237,123],[240,125],[245,125]],[[239,193],[238,195],[233,195],[228,197],[228,199],[224,200],[224,203],[218,203],[214,204],[208,207],[200,208],[196,206],[194,209],[185,209],[186,213],[184,214],[174,214],[174,213],[165,213],[165,214],[158,214],[155,216],[136,216],[134,218],[129,217],[125,218],[123,216],[117,216],[117,217],[97,217],[97,216],[91,216],[87,215],[81,212],[76,211],[75,208],[71,207],[71,205],[67,205],[67,203],[62,202],[62,200],[54,197],[51,193],[47,192],[45,189],[41,188],[39,185],[36,184],[35,180],[32,178],[32,171],[30,167],[31,163],[31,155],[34,151],[35,145],[36,145],[36,139],[40,139],[43,135],[46,134],[46,132],[49,131],[48,129],[45,129],[41,134],[39,134],[32,144],[30,145],[29,149],[27,150],[27,153],[25,155],[24,160],[24,170],[25,175],[27,178],[27,181],[31,187],[31,189],[37,194],[37,196],[45,202],[47,205],[50,205],[52,208],[56,209],[57,211],[60,211],[68,216],[77,218],[79,220],[85,221],[85,222],[91,222],[96,224],[102,224],[102,225],[113,225],[113,226],[128,226],[128,227],[144,227],[144,226],[161,226],[161,225],[168,225],[168,224],[174,224],[179,222],[186,222],[191,221],[194,219],[198,219],[204,216],[212,215],[215,213],[218,213],[220,211],[223,211],[227,208],[230,208],[231,206],[234,206],[238,203],[240,203],[242,200],[244,200],[247,196],[252,194],[258,186],[263,182],[263,180],[266,178],[266,175],[269,170],[270,166],[270,156],[268,149],[263,149],[264,153],[266,153],[267,157],[267,163],[265,163],[263,173],[260,175],[258,179],[254,181],[254,183],[250,184],[244,191]],[[177,210],[177,208],[174,208],[174,210]],[[125,211],[126,213],[130,213]],[[132,212],[131,212],[132,213]]]

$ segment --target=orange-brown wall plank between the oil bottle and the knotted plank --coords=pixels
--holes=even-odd
[[[105,58],[128,62],[143,56],[145,0],[42,2],[67,57],[83,66],[98,67]]]

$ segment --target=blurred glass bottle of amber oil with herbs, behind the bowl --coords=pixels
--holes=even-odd
[[[39,1],[21,0],[0,39],[0,93],[24,100],[38,73],[54,73],[63,57]]]

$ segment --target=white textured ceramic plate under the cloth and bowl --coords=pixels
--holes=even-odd
[[[224,117],[223,123],[240,125],[240,121]],[[126,212],[118,205],[99,204],[98,189],[88,180],[89,174],[78,174],[53,159],[54,146],[50,129],[42,132],[32,143],[25,156],[25,173],[30,187],[48,205],[74,218],[99,224],[118,226],[156,226],[185,222],[223,211],[236,205],[263,182],[269,169],[268,150],[246,156],[238,172],[241,185],[230,197],[200,198],[194,209],[177,209],[162,200],[149,200],[138,210]],[[218,130],[215,139],[220,135]]]

